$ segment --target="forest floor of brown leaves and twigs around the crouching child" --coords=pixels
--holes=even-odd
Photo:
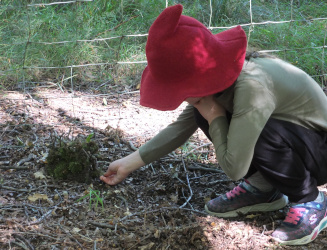
[[[326,230],[306,246],[271,239],[287,208],[233,219],[206,214],[206,201],[238,183],[221,171],[200,131],[116,186],[53,179],[45,166],[54,138],[94,134],[104,172],[183,109],[143,108],[137,92],[71,96],[54,89],[2,94],[0,249],[326,249]]]

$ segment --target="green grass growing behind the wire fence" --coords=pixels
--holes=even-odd
[[[102,0],[71,4],[31,6],[41,1],[0,1],[0,84],[1,89],[33,87],[47,82],[70,85],[70,68],[74,83],[135,84],[144,64],[117,65],[120,61],[143,61],[145,34],[165,8],[164,0]],[[43,3],[51,1],[42,1]],[[180,1],[169,1],[169,5]],[[209,26],[209,1],[182,1],[185,15]],[[326,74],[326,56],[318,47],[326,45],[327,3],[324,0],[252,0],[252,21],[289,21],[285,24],[255,25],[250,47],[280,50],[275,53],[307,71]],[[212,0],[212,27],[226,27],[251,22],[250,1]],[[249,33],[249,26],[244,26]],[[213,29],[218,33],[222,29]],[[121,38],[121,36],[125,36]],[[117,37],[101,40],[108,37]],[[99,40],[94,40],[99,39]],[[87,41],[80,41],[87,40]],[[93,40],[93,41],[89,41]],[[45,44],[50,42],[52,44]],[[37,67],[37,68],[35,68]],[[28,69],[25,69],[28,68]],[[69,79],[63,81],[62,79]],[[135,81],[133,82],[133,79]],[[322,77],[315,79],[319,82]],[[63,82],[62,82],[63,81]]]

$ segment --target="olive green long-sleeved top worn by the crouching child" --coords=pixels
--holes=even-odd
[[[209,127],[217,160],[224,172],[239,180],[247,173],[257,139],[270,117],[308,129],[327,131],[327,97],[305,72],[280,59],[252,58],[232,87],[217,96],[232,113],[230,124],[218,117]],[[145,163],[175,150],[197,130],[193,106],[140,147]],[[327,153],[327,152],[326,152]]]

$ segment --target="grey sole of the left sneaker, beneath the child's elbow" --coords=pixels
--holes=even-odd
[[[217,216],[217,217],[221,217],[221,218],[230,218],[230,217],[236,217],[239,214],[248,214],[250,212],[269,212],[269,211],[276,211],[278,209],[281,209],[283,207],[285,207],[288,203],[288,198],[287,196],[283,195],[282,198],[274,201],[274,202],[270,202],[270,203],[260,203],[260,204],[256,204],[253,206],[247,206],[247,207],[241,207],[239,209],[233,210],[233,211],[229,211],[229,212],[225,212],[225,213],[215,213],[212,212],[208,209],[207,205],[205,205],[205,210],[207,211],[208,214]]]

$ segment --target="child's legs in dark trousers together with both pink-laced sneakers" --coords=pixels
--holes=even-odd
[[[208,136],[209,126],[204,118],[196,112],[195,117]],[[232,217],[239,212],[279,209],[287,201],[279,189],[293,203],[284,222],[272,234],[275,240],[303,245],[327,227],[327,198],[317,188],[327,182],[327,133],[270,119],[256,143],[245,178],[250,182],[246,180],[209,201],[206,211],[218,217]],[[263,178],[274,187],[271,191]]]

